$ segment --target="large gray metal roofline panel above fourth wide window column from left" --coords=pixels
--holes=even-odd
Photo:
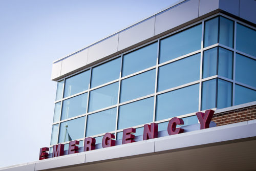
[[[200,1],[201,2],[201,1]],[[156,15],[155,35],[198,17],[199,0],[185,1]]]

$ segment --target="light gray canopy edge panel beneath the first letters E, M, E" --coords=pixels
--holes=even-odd
[[[49,168],[81,164],[81,163],[84,163],[85,158],[86,158],[86,154],[78,153],[73,155],[60,156],[57,158],[40,160],[37,163],[35,163],[35,170],[44,170]]]

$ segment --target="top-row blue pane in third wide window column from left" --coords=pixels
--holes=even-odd
[[[157,42],[123,55],[122,76],[155,66],[157,63]]]

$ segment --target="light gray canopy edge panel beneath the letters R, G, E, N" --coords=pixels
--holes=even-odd
[[[97,151],[90,151],[86,154],[86,163],[106,159],[134,156],[140,154],[154,153],[155,142],[146,143],[139,141],[120,146],[101,148]]]

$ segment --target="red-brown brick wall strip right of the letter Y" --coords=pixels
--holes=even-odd
[[[256,105],[214,114],[211,121],[217,126],[256,119]]]

